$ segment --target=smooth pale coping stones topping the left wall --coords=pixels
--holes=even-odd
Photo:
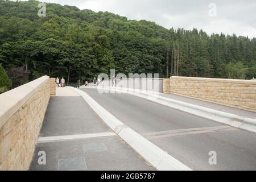
[[[48,80],[48,76],[43,76],[0,94],[0,128],[34,95],[40,86]]]

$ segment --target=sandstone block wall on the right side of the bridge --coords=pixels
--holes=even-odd
[[[256,81],[254,80],[171,77],[168,93],[256,111]]]

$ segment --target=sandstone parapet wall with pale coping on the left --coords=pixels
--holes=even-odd
[[[0,171],[30,167],[49,97],[48,76],[0,94]]]

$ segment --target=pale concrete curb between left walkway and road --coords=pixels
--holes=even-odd
[[[146,138],[139,135],[134,130],[124,125],[121,121],[110,114],[104,107],[94,101],[88,94],[82,90],[68,87],[77,92],[90,107],[101,117],[101,119],[112,129],[119,137],[125,140],[135,151],[140,154],[144,160],[150,163],[158,170],[164,171],[191,171],[179,160],[164,152],[161,148],[151,143]]]

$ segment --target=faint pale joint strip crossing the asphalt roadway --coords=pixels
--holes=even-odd
[[[192,129],[180,129],[180,130],[168,130],[168,131],[159,131],[154,133],[143,134],[147,139],[159,139],[167,137],[176,137],[180,135],[191,135],[191,134],[202,134],[202,133],[213,133],[216,131],[233,131],[238,130],[230,126],[213,126],[213,127],[199,127]]]

